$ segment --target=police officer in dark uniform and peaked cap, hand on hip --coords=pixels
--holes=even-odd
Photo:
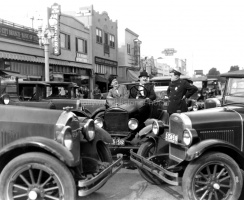
[[[171,69],[170,74],[171,82],[167,89],[169,98],[167,111],[169,115],[176,112],[187,112],[186,100],[197,91],[197,87],[191,85],[187,80],[180,79],[182,73],[178,69]]]

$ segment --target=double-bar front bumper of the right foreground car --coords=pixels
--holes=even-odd
[[[132,150],[130,151],[130,160],[134,162],[139,168],[145,169],[148,172],[154,174],[162,181],[170,184],[170,185],[180,185],[180,177],[179,173],[171,172],[160,165],[155,164],[154,162],[137,155]],[[164,155],[165,156],[165,155]],[[160,159],[160,155],[157,156],[157,159]]]

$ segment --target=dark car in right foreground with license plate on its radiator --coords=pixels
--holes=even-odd
[[[238,200],[244,170],[244,70],[226,78],[222,102],[215,108],[175,113],[169,126],[155,120],[152,133],[131,161],[154,184],[182,185],[188,200]],[[220,107],[218,105],[220,104]]]

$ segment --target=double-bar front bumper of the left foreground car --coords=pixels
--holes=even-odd
[[[115,173],[117,173],[123,166],[122,162],[123,157],[120,157],[118,160],[113,162],[109,167],[99,173],[97,176],[89,180],[80,180],[78,181],[78,196],[89,195],[100,187],[102,187],[108,179],[110,179]]]

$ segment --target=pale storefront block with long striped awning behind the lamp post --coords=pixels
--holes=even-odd
[[[72,16],[60,14],[58,41],[60,54],[49,45],[50,80],[89,83],[92,74],[90,30]],[[38,31],[0,20],[0,68],[25,75],[30,80],[44,80],[44,47],[39,46]]]

